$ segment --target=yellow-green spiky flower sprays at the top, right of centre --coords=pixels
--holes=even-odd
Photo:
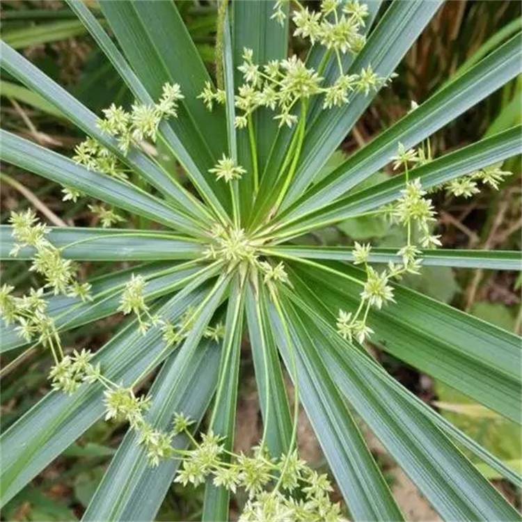
[[[284,1],[277,1],[273,18],[283,23]],[[367,6],[357,0],[323,0],[320,10],[311,12],[297,2],[298,8],[292,15],[295,24],[294,35],[310,40],[311,45],[319,43],[325,47],[325,57],[331,53],[337,58],[339,76],[333,84],[324,86],[321,77],[326,62],[319,65],[319,70],[308,68],[297,56],[283,60],[271,60],[264,65],[255,63],[253,50],[243,50],[243,63],[238,69],[243,74],[244,84],[239,86],[235,96],[235,106],[242,111],[235,118],[235,126],[244,128],[250,125],[251,114],[259,107],[276,111],[274,119],[279,126],[293,127],[298,116],[294,107],[298,102],[306,104],[314,95],[324,95],[323,108],[341,106],[349,102],[349,93],[358,90],[365,95],[370,90],[378,90],[386,84],[386,79],[379,77],[367,65],[358,74],[345,74],[342,55],[357,54],[365,45],[361,28],[365,25]],[[214,102],[225,103],[225,93],[214,90],[207,82],[200,97],[207,108],[212,110]]]

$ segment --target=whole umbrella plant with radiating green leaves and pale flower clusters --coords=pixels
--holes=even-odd
[[[242,521],[401,520],[362,419],[443,519],[518,519],[461,449],[518,487],[519,475],[390,377],[367,343],[521,421],[520,339],[402,285],[425,266],[521,268],[516,252],[437,248],[432,200],[497,189],[521,127],[441,157],[429,142],[521,72],[520,35],[319,179],[440,1],[219,2],[214,79],[174,2],[101,1],[104,24],[69,5],[135,101],[95,115],[1,45],[1,68],[85,133],[69,158],[1,131],[2,161],[60,184],[64,201],[91,198],[100,222],[52,228],[29,209],[0,228],[2,259],[31,260],[42,283],[1,287],[1,350],[47,350],[52,388],[1,436],[2,503],[104,417],[128,430],[86,520],[152,520],[173,480],[205,484],[207,521],[227,520],[239,491]],[[306,52],[288,54],[290,32]],[[358,188],[388,164],[393,176]],[[402,248],[301,242],[367,215],[404,228]],[[140,228],[125,225],[133,216]],[[82,261],[124,260],[79,277]],[[99,349],[63,344],[64,331],[117,313],[126,321]],[[263,425],[246,454],[234,449],[242,346]],[[300,406],[330,477],[299,456]]]

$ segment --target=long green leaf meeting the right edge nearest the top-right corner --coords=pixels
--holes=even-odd
[[[413,147],[457,118],[516,77],[521,72],[521,58],[519,39],[514,37],[349,157],[345,164],[292,205],[285,219],[309,214],[339,198],[388,164],[397,152],[397,143],[402,143],[406,148]]]

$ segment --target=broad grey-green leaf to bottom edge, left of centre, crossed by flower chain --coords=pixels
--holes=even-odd
[[[173,413],[178,411],[199,424],[214,393],[219,361],[216,343],[204,340],[189,356],[181,355],[168,358],[150,389],[152,407],[147,421],[155,429],[168,431]],[[83,520],[154,520],[180,461],[170,459],[151,468],[137,439],[134,432],[127,432]],[[173,439],[178,450],[188,443],[184,435]]]

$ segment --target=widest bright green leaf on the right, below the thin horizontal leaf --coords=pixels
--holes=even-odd
[[[299,292],[327,310],[331,324],[339,309],[356,310],[363,271],[339,263],[292,263],[292,267],[306,280],[306,287],[294,283]],[[397,303],[371,310],[368,316],[375,331],[372,342],[521,423],[520,338],[406,287],[393,286]]]

